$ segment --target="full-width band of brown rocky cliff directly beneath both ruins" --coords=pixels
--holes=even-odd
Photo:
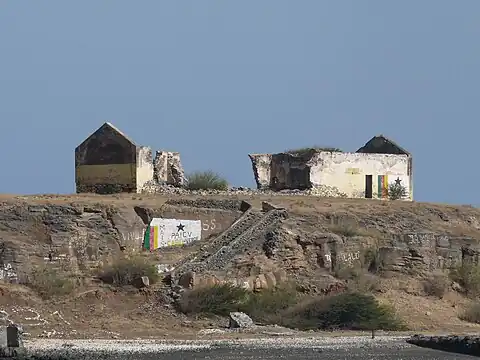
[[[480,212],[468,206],[258,197],[248,200],[254,213],[229,230],[248,210],[245,202],[212,197],[167,200],[131,196],[5,199],[0,205],[2,276],[13,279],[32,265],[60,262],[86,272],[121,251],[140,250],[152,217],[201,220],[202,242],[176,249],[175,261],[202,246],[202,261],[222,263],[209,269],[227,278],[283,271],[313,279],[338,266],[366,261],[392,274],[416,275],[477,261],[480,250]],[[274,208],[262,213],[262,200],[284,207],[288,218],[277,216],[275,211],[280,210]],[[220,234],[224,238],[218,238]],[[241,239],[241,246],[227,247],[231,248],[229,260],[223,261],[219,249],[225,251],[234,239],[239,244]],[[171,252],[159,251],[159,264]]]

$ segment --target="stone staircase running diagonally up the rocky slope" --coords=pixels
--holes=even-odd
[[[283,209],[267,212],[248,209],[231,227],[211,242],[177,263],[172,273],[172,284],[189,271],[220,270],[238,253],[246,251],[253,241],[261,239],[278,222],[286,218]]]

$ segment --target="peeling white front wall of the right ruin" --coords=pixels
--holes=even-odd
[[[364,198],[365,175],[373,175],[373,198],[377,198],[378,175],[388,175],[388,183],[401,180],[409,194],[405,200],[412,200],[408,160],[407,155],[320,152],[309,161],[310,181],[313,186],[334,186],[348,197]]]

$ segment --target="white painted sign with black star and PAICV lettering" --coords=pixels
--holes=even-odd
[[[200,220],[154,218],[145,231],[143,246],[149,250],[161,247],[188,245],[202,237]]]

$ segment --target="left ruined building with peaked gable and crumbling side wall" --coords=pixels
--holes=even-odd
[[[177,152],[138,146],[110,123],[103,124],[75,149],[77,193],[140,193],[146,185],[183,186]]]

